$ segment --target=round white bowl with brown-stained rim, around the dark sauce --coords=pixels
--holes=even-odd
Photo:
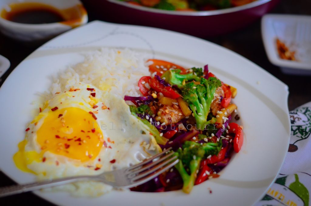
[[[48,40],[74,27],[86,24],[88,21],[87,12],[79,0],[1,0],[0,12],[2,9],[10,11],[9,5],[12,3],[25,2],[43,3],[59,10],[74,8],[72,11],[77,12],[79,18],[75,19],[75,21],[49,24],[21,24],[0,17],[0,30],[4,35],[24,42]]]

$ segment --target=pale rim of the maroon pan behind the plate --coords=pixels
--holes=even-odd
[[[119,0],[107,0],[109,2],[119,4],[125,7],[130,7],[133,9],[151,12],[151,13],[159,13],[159,14],[168,14],[168,15],[180,15],[180,16],[212,16],[212,15],[220,15],[220,14],[226,14],[226,13],[232,13],[232,12],[239,12],[246,9],[250,9],[253,7],[260,6],[262,4],[265,4],[267,2],[270,2],[272,0],[257,0],[248,4],[245,4],[243,6],[238,7],[232,7],[227,9],[217,9],[213,11],[199,11],[199,12],[189,12],[189,11],[168,11],[168,10],[162,10],[162,9],[156,9],[156,8],[149,8],[144,6],[136,6],[129,4],[127,2],[119,1]]]

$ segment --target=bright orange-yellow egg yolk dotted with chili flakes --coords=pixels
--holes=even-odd
[[[85,162],[96,158],[104,137],[92,114],[68,107],[49,111],[37,131],[37,142],[43,152]]]

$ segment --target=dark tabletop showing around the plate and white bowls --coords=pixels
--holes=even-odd
[[[281,3],[272,11],[272,13],[311,15],[310,8],[310,0],[282,0]],[[89,19],[94,19],[90,13]],[[243,55],[287,84],[290,91],[288,98],[288,105],[290,110],[293,110],[296,107],[311,101],[311,90],[306,89],[306,85],[310,85],[311,83],[310,76],[285,75],[281,73],[280,68],[272,65],[267,59],[267,55],[262,43],[259,20],[242,30],[231,34],[208,38],[207,40],[222,45],[238,54]],[[11,67],[2,76],[0,86],[7,78],[7,76],[12,72],[12,70],[39,46],[40,45],[25,45],[0,34],[0,54],[5,56],[11,62]],[[0,186],[12,184],[15,184],[14,181],[10,180],[2,172],[0,172]],[[19,194],[0,199],[1,205],[18,205],[25,203],[52,205],[32,193]]]

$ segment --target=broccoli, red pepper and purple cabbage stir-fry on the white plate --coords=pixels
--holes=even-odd
[[[132,190],[190,193],[194,185],[218,177],[232,152],[242,148],[243,127],[230,122],[237,109],[231,102],[237,89],[221,82],[208,65],[203,70],[157,59],[148,63],[151,75],[138,81],[142,96],[124,100],[159,146],[172,147],[180,161]]]

